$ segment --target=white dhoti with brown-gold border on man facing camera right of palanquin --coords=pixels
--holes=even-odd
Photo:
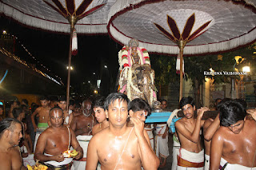
[[[184,148],[180,148],[178,155],[178,166],[177,170],[203,170],[204,166],[204,150],[201,152],[189,152]]]

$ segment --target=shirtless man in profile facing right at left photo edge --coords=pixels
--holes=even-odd
[[[22,124],[12,118],[0,121],[0,168],[24,170],[18,143],[22,139]]]

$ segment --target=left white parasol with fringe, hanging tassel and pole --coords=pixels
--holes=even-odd
[[[107,15],[116,0],[0,0],[0,14],[14,18],[26,26],[70,33],[71,56],[77,53],[77,32],[106,34]],[[70,69],[68,69],[66,99],[69,105]]]

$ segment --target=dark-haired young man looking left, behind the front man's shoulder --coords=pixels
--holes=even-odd
[[[94,104],[94,114],[95,114],[96,120],[98,121],[98,124],[94,125],[93,132],[92,132],[93,135],[95,135],[97,132],[100,132],[104,128],[109,126],[109,121],[106,120],[104,101],[105,101],[105,98],[102,97],[97,101],[95,101],[95,104]]]

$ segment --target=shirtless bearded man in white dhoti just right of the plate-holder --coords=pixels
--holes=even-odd
[[[78,142],[83,149],[83,157],[79,161],[74,161],[75,169],[85,169],[86,168],[86,153],[89,141],[92,137],[92,128],[96,124],[94,116],[92,115],[93,108],[92,102],[86,100],[82,102],[82,114],[74,117],[70,128],[72,128],[77,136]]]

